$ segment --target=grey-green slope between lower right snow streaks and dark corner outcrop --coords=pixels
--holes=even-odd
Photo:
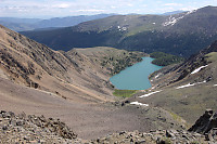
[[[217,109],[216,94],[216,88],[212,84],[201,84],[179,90],[167,89],[153,97],[148,97],[145,102],[173,112],[193,123],[204,109]]]

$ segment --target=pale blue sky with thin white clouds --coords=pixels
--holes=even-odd
[[[158,14],[206,5],[217,6],[217,0],[0,0],[0,16],[48,18],[100,13]]]

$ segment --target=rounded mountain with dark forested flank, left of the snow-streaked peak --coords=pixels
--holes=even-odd
[[[119,40],[140,30],[161,27],[166,16],[114,15],[85,22],[74,27],[54,30],[22,32],[54,50],[71,50],[74,47],[116,45]],[[154,25],[153,23],[156,23]]]

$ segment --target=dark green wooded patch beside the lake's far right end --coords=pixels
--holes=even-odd
[[[183,57],[167,54],[164,52],[153,52],[150,54],[150,56],[155,58],[154,61],[152,61],[152,64],[155,64],[158,66],[167,66],[167,65],[177,64],[184,61]]]

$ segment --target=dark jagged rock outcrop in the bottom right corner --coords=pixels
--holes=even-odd
[[[207,140],[217,140],[217,113],[206,109],[189,131],[205,134]]]

